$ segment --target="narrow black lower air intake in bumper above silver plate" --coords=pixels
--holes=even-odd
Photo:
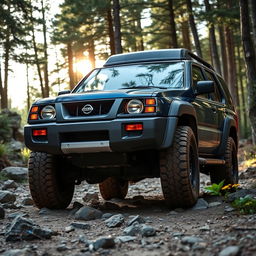
[[[81,141],[100,141],[100,140],[109,140],[108,131],[60,133],[61,142],[81,142]]]

